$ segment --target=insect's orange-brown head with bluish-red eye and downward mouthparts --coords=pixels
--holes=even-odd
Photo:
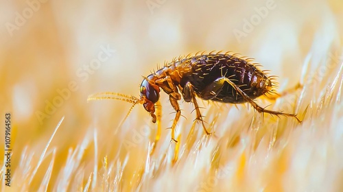
[[[143,107],[147,112],[150,112],[150,115],[152,117],[152,122],[156,123],[156,115],[154,115],[155,112],[155,104],[160,98],[160,88],[156,84],[153,84],[151,80],[152,76],[148,76],[144,78],[141,88],[139,88],[139,91],[141,92],[141,104],[143,104]]]

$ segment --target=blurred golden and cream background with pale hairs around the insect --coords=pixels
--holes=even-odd
[[[343,157],[336,154],[343,146],[342,1],[28,0],[1,4],[1,115],[3,120],[5,113],[12,115],[13,152],[12,184],[6,187],[2,176],[2,191],[342,189],[338,180],[343,178]],[[255,58],[263,69],[279,76],[280,91],[298,82],[305,84],[306,91],[294,96],[298,99],[290,102],[291,107],[282,108],[283,99],[270,107],[298,112],[304,123],[296,125],[292,119],[269,115],[263,123],[251,106],[249,110],[246,105],[239,110],[230,105],[211,108],[213,104],[200,102],[208,107],[204,114],[209,125],[219,117],[213,125],[216,134],[204,139],[201,126],[196,125],[200,134],[186,139],[195,115],[191,104],[180,101],[187,119],[179,123],[178,144],[187,146],[173,164],[169,152],[176,144],[169,143],[170,130],[165,128],[174,114],[170,114],[173,110],[166,94],[161,94],[162,138],[150,158],[148,146],[156,125],[141,106],[117,128],[130,104],[86,100],[103,91],[139,96],[142,75],[149,75],[158,64],[213,50]],[[4,126],[1,146],[5,146]],[[294,127],[298,127],[295,133]],[[301,156],[304,151],[316,151],[311,147],[324,133],[327,137],[322,142],[332,145],[320,145],[322,158]],[[294,143],[302,141],[303,148],[294,149],[298,146]],[[5,159],[0,163],[5,165]],[[222,165],[230,169],[218,179]],[[327,167],[314,170],[320,165]],[[202,183],[206,187],[200,187]]]

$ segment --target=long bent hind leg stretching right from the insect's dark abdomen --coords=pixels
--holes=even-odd
[[[235,83],[233,83],[227,77],[217,78],[217,80],[215,80],[214,82],[212,82],[212,84],[210,84],[207,88],[205,88],[206,92],[202,93],[202,96],[207,95],[210,99],[211,99],[211,97],[215,97],[220,91],[222,91],[222,87],[224,86],[225,82],[227,82],[228,84],[230,84],[230,86],[235,88],[235,91],[237,91],[237,93],[239,95],[241,95],[246,101],[248,101],[248,103],[251,104],[252,107],[254,107],[255,110],[257,110],[258,112],[262,112],[262,113],[266,112],[266,113],[269,113],[271,115],[276,115],[276,116],[284,115],[287,117],[294,117],[296,119],[296,121],[301,123],[301,121],[298,119],[298,117],[296,117],[296,114],[290,114],[290,113],[279,112],[279,111],[268,110],[268,109],[262,108],[257,103],[255,103],[255,101],[252,101],[252,99],[250,99],[250,97],[248,95],[246,95],[246,93],[244,93],[244,91],[241,91],[241,88],[239,88],[239,86],[237,86]]]

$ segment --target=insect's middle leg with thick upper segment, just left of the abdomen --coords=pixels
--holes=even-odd
[[[183,90],[183,97],[187,102],[193,101],[194,107],[196,108],[196,120],[202,123],[202,128],[204,129],[204,132],[206,134],[211,134],[211,132],[209,132],[204,125],[204,120],[202,119],[199,105],[196,101],[196,94],[194,94],[193,85],[190,82],[187,82],[187,84],[185,85],[185,88]]]

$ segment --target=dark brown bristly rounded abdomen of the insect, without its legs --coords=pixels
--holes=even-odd
[[[190,82],[198,97],[224,103],[239,104],[246,102],[244,97],[239,95],[233,86],[225,83],[222,90],[217,95],[204,95],[204,90],[209,88],[215,80],[220,77],[227,77],[241,88],[250,99],[255,99],[270,91],[272,82],[257,69],[253,64],[249,64],[244,59],[237,58],[228,54],[210,54],[194,56],[190,59],[183,59],[182,64],[176,68],[184,68],[189,65],[191,70],[182,72],[180,69],[180,86],[183,88]],[[187,67],[188,68],[188,67]],[[178,83],[177,80],[174,83]]]

